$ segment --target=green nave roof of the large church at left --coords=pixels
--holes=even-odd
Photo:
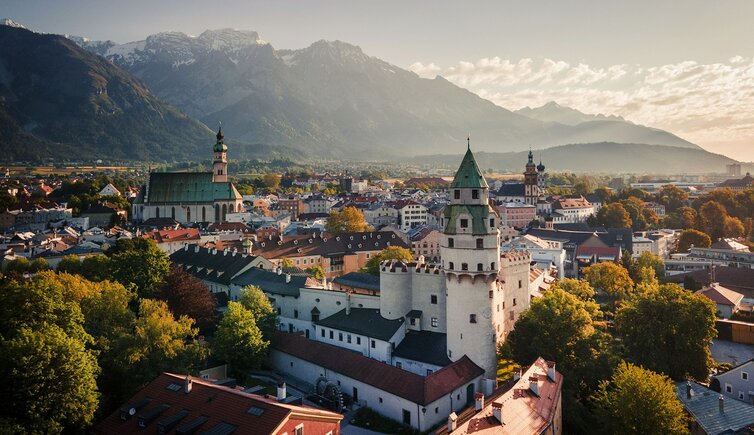
[[[214,202],[240,199],[233,183],[212,181],[211,172],[152,172],[146,200],[150,204]]]

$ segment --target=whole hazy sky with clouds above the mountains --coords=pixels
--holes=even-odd
[[[3,0],[33,30],[128,42],[256,30],[361,46],[518,109],[555,100],[754,160],[754,1]]]

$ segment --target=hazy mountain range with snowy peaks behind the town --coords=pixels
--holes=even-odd
[[[117,44],[5,24],[6,158],[195,160],[220,123],[232,158],[397,160],[456,153],[469,133],[488,153],[602,142],[705,153],[672,133],[554,102],[513,112],[340,41],[276,50],[256,32],[221,29]]]

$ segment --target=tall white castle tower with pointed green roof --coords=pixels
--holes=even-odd
[[[447,286],[448,357],[467,355],[495,379],[497,343],[503,337],[499,218],[489,204],[489,185],[471,148],[450,184],[442,218],[440,252]]]

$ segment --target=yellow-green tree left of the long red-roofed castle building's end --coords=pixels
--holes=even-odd
[[[228,311],[217,328],[214,345],[231,373],[244,377],[248,370],[262,364],[270,342],[263,338],[250,310],[238,302],[229,302]]]

